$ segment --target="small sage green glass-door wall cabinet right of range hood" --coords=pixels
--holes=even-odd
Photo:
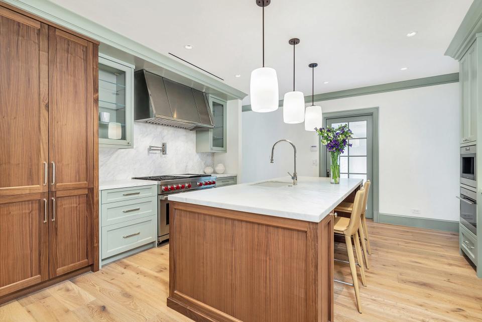
[[[209,107],[214,128],[196,132],[196,152],[226,152],[227,102],[210,95]]]

